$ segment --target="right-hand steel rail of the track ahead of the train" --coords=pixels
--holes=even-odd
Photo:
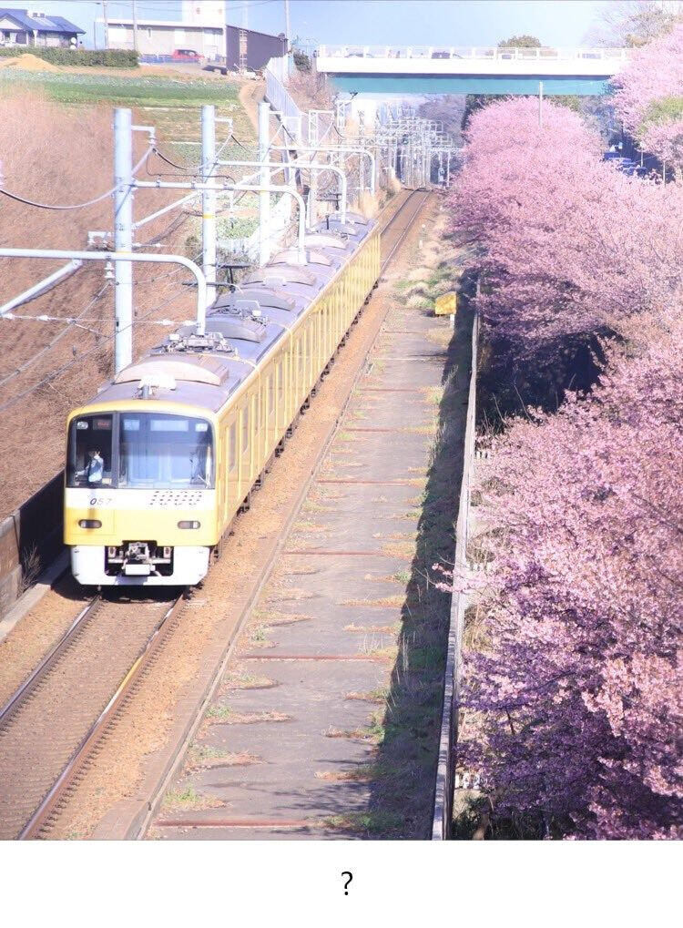
[[[40,831],[45,828],[45,825],[48,823],[49,819],[52,818],[58,811],[59,804],[61,803],[65,794],[68,793],[74,781],[77,779],[79,771],[97,747],[97,742],[108,728],[110,721],[113,719],[117,710],[122,705],[122,702],[131,692],[131,690],[133,690],[136,681],[140,678],[140,675],[148,666],[154,654],[159,650],[161,642],[165,637],[163,632],[168,630],[169,626],[171,625],[170,620],[173,619],[175,613],[179,610],[184,599],[185,590],[180,593],[180,595],[177,597],[177,599],[174,600],[174,603],[169,607],[169,609],[164,612],[160,621],[154,626],[154,630],[149,636],[143,651],[138,655],[135,663],[123,677],[118,689],[113,694],[102,712],[97,716],[96,721],[85,735],[83,741],[81,741],[79,746],[76,748],[74,754],[71,755],[71,759],[67,766],[64,767],[62,772],[59,774],[58,779],[52,785],[48,793],[46,793],[40,805],[33,812],[32,817],[29,819],[27,824],[24,825],[22,831],[19,833],[19,841],[26,841],[32,838],[37,838],[40,834]]]

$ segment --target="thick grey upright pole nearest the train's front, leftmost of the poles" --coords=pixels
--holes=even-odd
[[[133,251],[133,119],[132,111],[114,110],[114,250]],[[133,360],[133,264],[114,265],[114,371]]]

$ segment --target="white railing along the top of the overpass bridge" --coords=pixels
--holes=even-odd
[[[627,48],[498,48],[496,45],[319,45],[318,58],[474,58],[489,61],[620,60]]]

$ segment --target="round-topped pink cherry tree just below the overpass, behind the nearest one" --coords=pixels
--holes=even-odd
[[[599,153],[599,136],[563,107],[548,104],[542,126],[527,98],[472,117],[453,228],[476,246],[491,332],[524,363],[644,309],[665,312],[680,293],[683,187],[627,177]]]

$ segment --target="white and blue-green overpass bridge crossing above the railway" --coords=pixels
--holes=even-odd
[[[362,94],[598,96],[628,60],[625,48],[320,45],[316,70]]]

